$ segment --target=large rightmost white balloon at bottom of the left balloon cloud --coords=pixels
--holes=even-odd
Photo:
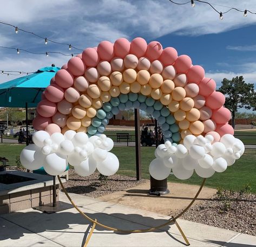
[[[102,175],[111,176],[119,169],[119,160],[113,153],[107,153],[107,158],[97,162],[97,170]]]

